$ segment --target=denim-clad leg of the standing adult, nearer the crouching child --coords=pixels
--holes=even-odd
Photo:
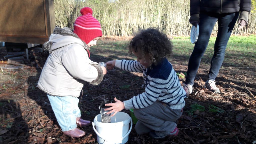
[[[188,71],[186,76],[186,85],[194,85],[194,80],[200,66],[201,59],[208,46],[209,39],[218,18],[207,14],[200,14],[199,36],[194,50],[188,62]]]

